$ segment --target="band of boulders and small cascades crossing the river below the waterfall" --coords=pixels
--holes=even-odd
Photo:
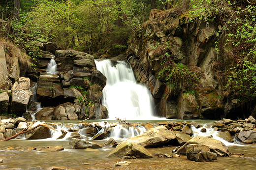
[[[217,161],[217,156],[232,155],[228,151],[228,147],[212,136],[197,136],[195,130],[200,128],[202,133],[209,131],[218,131],[218,137],[227,141],[234,142],[233,139],[242,143],[255,143],[256,120],[250,116],[245,120],[233,121],[223,119],[212,122],[204,127],[201,124],[192,121],[168,121],[158,123],[109,123],[92,122],[92,123],[45,123],[45,122],[26,122],[24,118],[2,119],[0,121],[0,139],[4,140],[8,137],[21,132],[22,130],[30,130],[27,133],[19,135],[16,139],[40,140],[53,138],[55,132],[56,140],[69,140],[69,144],[74,149],[86,148],[115,148],[109,153],[109,157],[124,157],[125,159],[150,158],[156,156],[172,157],[168,155],[152,155],[147,149],[163,146],[179,146],[175,152],[177,154],[187,155],[187,158],[197,162]],[[111,137],[115,128],[119,126],[118,138],[123,138],[125,142],[117,142]],[[62,128],[60,128],[62,127]],[[120,128],[122,127],[122,128]],[[136,131],[137,135],[132,136],[126,133],[128,129]],[[145,132],[141,133],[141,130]],[[102,144],[100,140],[106,140]],[[122,141],[123,141],[122,140]],[[99,142],[99,143],[98,143]],[[7,147],[1,150],[38,150],[38,151],[60,151],[63,146],[47,146],[47,147]],[[177,156],[177,155],[175,155]]]

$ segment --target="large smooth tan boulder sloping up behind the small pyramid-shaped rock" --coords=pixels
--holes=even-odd
[[[173,142],[176,136],[173,132],[166,129],[165,126],[151,128],[142,135],[131,137],[127,142],[134,142],[145,148],[160,147],[168,142]]]

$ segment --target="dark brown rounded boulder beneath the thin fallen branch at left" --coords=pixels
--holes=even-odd
[[[27,140],[40,140],[51,138],[50,128],[48,126],[39,126],[26,133]]]

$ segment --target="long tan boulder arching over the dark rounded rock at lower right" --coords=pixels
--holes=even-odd
[[[211,152],[217,153],[218,156],[225,156],[228,153],[228,147],[221,141],[208,138],[208,137],[202,137],[202,136],[196,136],[193,137],[190,141],[185,143],[183,146],[181,146],[177,153],[180,154],[186,154],[186,145],[189,144],[203,144],[210,148]]]

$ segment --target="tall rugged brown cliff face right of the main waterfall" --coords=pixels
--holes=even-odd
[[[168,18],[173,18],[170,23]],[[137,81],[151,90],[157,115],[219,119],[253,113],[254,105],[245,109],[232,92],[224,91],[224,70],[235,61],[223,50],[216,51],[222,27],[202,20],[189,22],[174,10],[151,11],[143,31],[129,46],[127,59]],[[222,37],[219,49],[230,46]]]

